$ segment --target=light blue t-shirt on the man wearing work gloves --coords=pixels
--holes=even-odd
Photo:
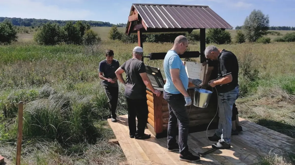
[[[164,85],[164,90],[171,94],[180,94],[181,92],[178,91],[172,82],[170,69],[180,69],[179,77],[184,86],[184,89],[187,90],[189,86],[189,78],[186,74],[183,62],[174,50],[169,50],[164,59],[164,73],[166,75],[166,84]]]

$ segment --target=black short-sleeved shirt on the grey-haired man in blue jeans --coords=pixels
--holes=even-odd
[[[218,79],[226,75],[232,74],[232,82],[217,85],[218,93],[225,93],[235,89],[238,86],[239,64],[237,57],[231,51],[223,49],[218,55]]]

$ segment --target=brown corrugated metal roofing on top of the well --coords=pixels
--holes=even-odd
[[[233,28],[209,6],[132,4],[148,28]]]

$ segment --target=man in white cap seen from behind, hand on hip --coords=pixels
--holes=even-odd
[[[132,52],[132,59],[127,60],[115,72],[119,81],[125,85],[125,97],[128,105],[128,125],[130,138],[148,139],[150,134],[145,134],[145,126],[148,120],[148,104],[146,87],[156,96],[160,91],[155,90],[145,70],[145,64],[141,61],[143,50],[136,46]],[[126,82],[122,73],[126,72]],[[136,118],[137,117],[137,130]]]

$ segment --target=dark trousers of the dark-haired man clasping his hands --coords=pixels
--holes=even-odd
[[[118,104],[119,87],[104,85],[104,91],[108,98],[110,116],[115,119],[117,117],[116,109]]]

